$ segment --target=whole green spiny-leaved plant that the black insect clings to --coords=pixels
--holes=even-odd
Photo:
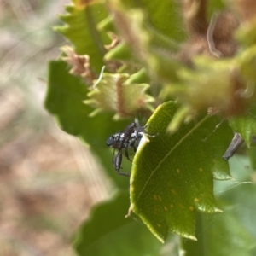
[[[256,188],[227,180],[230,169],[237,180],[253,176],[239,163],[253,162],[255,152],[255,3],[73,0],[66,11],[55,29],[73,48],[49,63],[45,106],[64,131],[90,144],[119,188],[79,230],[79,255],[165,254],[142,224],[124,218],[128,181],[113,172],[112,152],[99,147],[138,113],[158,136],[144,139],[134,157],[128,216],[162,242],[169,231],[183,236],[186,255],[253,255],[256,229],[246,212],[255,209]],[[230,168],[222,156],[233,132],[249,154]],[[223,184],[213,187],[213,178]],[[177,253],[177,236],[168,243]]]

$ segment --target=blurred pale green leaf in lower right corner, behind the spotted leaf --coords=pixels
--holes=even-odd
[[[244,156],[230,159],[234,179],[215,183],[218,205],[224,213],[197,214],[198,241],[183,239],[182,248],[188,256],[255,255],[255,184],[252,170]],[[253,251],[252,251],[253,250]]]

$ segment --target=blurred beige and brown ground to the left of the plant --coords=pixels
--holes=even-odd
[[[0,255],[75,255],[71,241],[108,186],[89,148],[44,110],[52,30],[68,0],[0,0]]]

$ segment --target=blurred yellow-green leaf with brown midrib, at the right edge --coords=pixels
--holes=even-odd
[[[195,56],[193,68],[177,70],[177,83],[166,84],[160,97],[177,96],[186,110],[183,119],[208,108],[228,117],[243,116],[256,99],[255,55],[254,46],[233,59]]]

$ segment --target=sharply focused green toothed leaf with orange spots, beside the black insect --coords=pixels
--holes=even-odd
[[[131,172],[131,210],[160,241],[168,230],[195,239],[195,210],[218,212],[212,177],[229,179],[222,155],[232,138],[230,127],[204,115],[170,135],[166,128],[177,111],[166,102],[148,120],[158,134],[138,149]]]

